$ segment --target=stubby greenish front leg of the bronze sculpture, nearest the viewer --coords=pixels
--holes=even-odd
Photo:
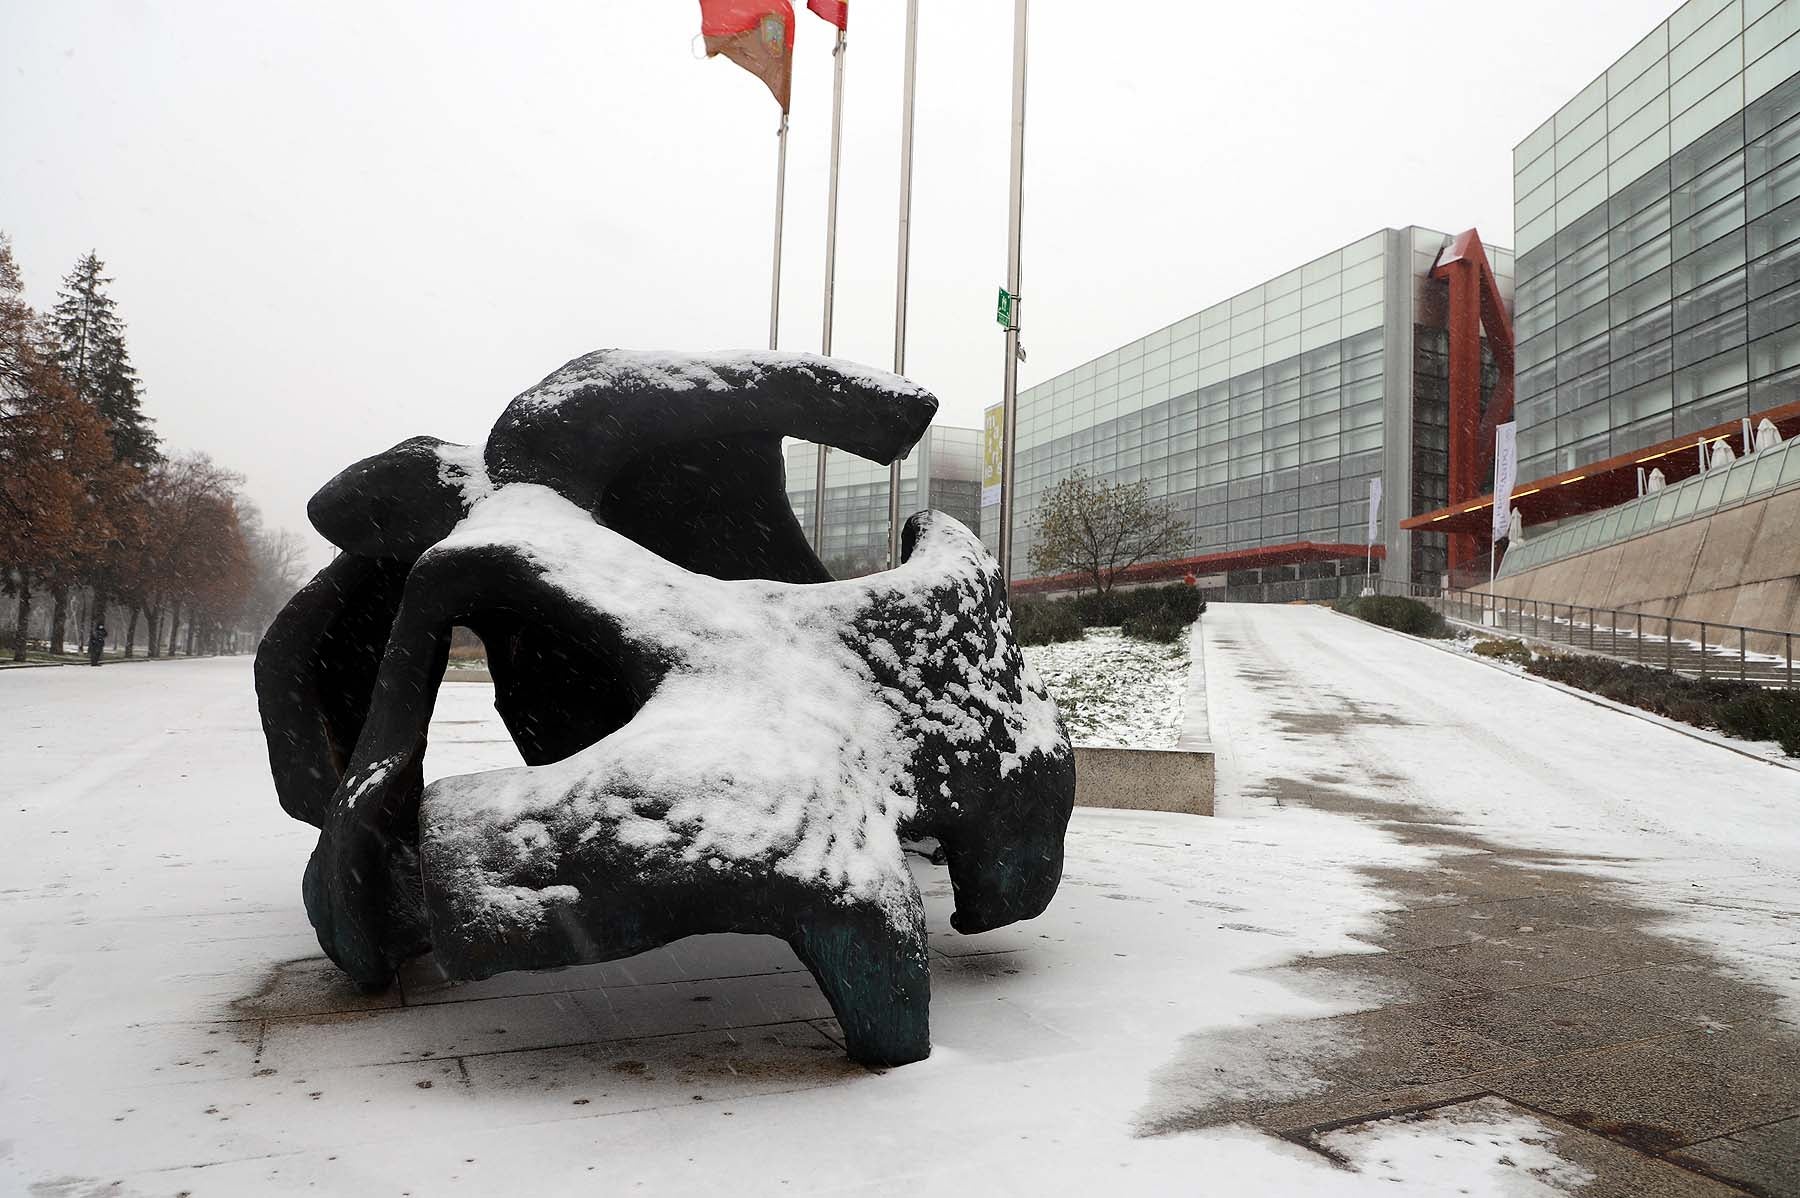
[[[931,1056],[925,921],[895,928],[871,908],[815,908],[788,937],[824,991],[850,1059],[887,1067]]]

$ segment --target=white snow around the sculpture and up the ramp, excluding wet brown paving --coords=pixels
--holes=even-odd
[[[1350,1167],[1246,1126],[1152,1135],[1303,1083],[1305,1054],[1249,1045],[1363,997],[1287,962],[1368,952],[1393,899],[1366,871],[1435,856],[1283,804],[1307,772],[1591,854],[1800,1002],[1795,773],[1328,612],[1204,624],[1220,817],[1076,811],[1051,910],[977,937],[920,865],[934,1052],[886,1074],[760,937],[355,995],[301,910],[311,829],[275,806],[248,660],[9,673],[0,1193],[1573,1193],[1568,1128],[1510,1104],[1318,1140]],[[445,687],[428,777],[517,763],[490,703]]]

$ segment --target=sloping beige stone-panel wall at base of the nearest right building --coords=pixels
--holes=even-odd
[[[1480,590],[1487,590],[1481,586]],[[1503,577],[1510,599],[1800,631],[1800,487]],[[1679,628],[1676,635],[1683,633]],[[1780,637],[1751,637],[1780,653]]]

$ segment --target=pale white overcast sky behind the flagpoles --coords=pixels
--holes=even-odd
[[[835,353],[886,367],[905,5],[853,7]],[[1012,4],[920,7],[907,374],[976,425]],[[1037,0],[1022,383],[1381,227],[1510,245],[1512,146],[1672,9]],[[781,347],[819,349],[832,27],[797,20]],[[0,0],[0,29],[29,297],[99,250],[166,446],[274,525],[589,349],[767,344],[778,112],[698,58],[691,0]]]

